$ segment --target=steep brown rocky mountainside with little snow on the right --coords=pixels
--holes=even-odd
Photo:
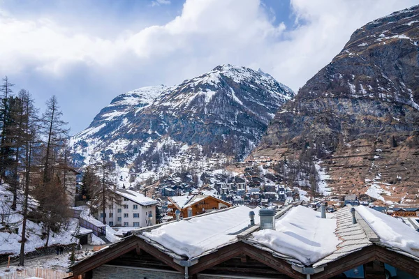
[[[277,160],[277,169],[290,173],[293,183],[317,181],[314,188],[326,195],[416,202],[418,30],[419,6],[356,30],[281,107],[247,160]]]

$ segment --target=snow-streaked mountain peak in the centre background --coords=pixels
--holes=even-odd
[[[78,167],[112,160],[126,183],[220,167],[249,155],[293,96],[263,71],[231,65],[176,86],[129,91],[71,138],[73,160]]]

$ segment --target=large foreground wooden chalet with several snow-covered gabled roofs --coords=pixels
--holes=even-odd
[[[137,229],[70,269],[84,279],[419,277],[414,229],[366,206],[322,215],[235,206]]]

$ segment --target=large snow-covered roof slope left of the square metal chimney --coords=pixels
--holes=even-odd
[[[249,227],[250,211],[255,213],[255,223],[259,223],[258,207],[250,209],[247,206],[236,206],[168,223],[139,236],[191,259],[237,241],[237,234]]]

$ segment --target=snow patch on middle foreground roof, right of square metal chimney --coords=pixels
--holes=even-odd
[[[253,241],[310,265],[337,249],[336,219],[322,219],[321,213],[297,206],[275,223],[275,230],[253,233]],[[319,249],[321,247],[321,249]]]

